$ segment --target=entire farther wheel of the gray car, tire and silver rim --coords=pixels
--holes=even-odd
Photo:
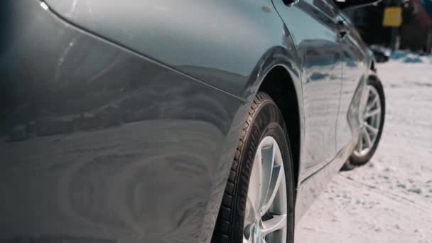
[[[377,150],[381,139],[385,117],[384,90],[379,80],[369,80],[366,86],[368,94],[365,111],[362,113],[362,126],[350,161],[345,169],[362,166],[367,163]]]

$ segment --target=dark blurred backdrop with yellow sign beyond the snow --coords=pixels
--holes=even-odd
[[[384,0],[346,13],[369,45],[431,54],[431,0]]]

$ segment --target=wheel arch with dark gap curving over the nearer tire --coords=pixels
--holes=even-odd
[[[250,77],[249,89],[243,97],[254,99],[258,91],[267,92],[281,109],[288,139],[293,147],[295,185],[301,173],[301,148],[303,148],[305,126],[303,112],[303,87],[301,64],[293,43],[288,48],[274,46],[262,56]],[[291,112],[294,111],[294,115]]]

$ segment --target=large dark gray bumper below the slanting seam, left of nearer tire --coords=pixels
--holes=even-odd
[[[249,104],[9,4],[0,239],[210,240]]]

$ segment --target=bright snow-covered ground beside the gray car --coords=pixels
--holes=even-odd
[[[377,153],[335,176],[296,242],[432,242],[432,58],[402,53],[377,68],[387,101]]]

